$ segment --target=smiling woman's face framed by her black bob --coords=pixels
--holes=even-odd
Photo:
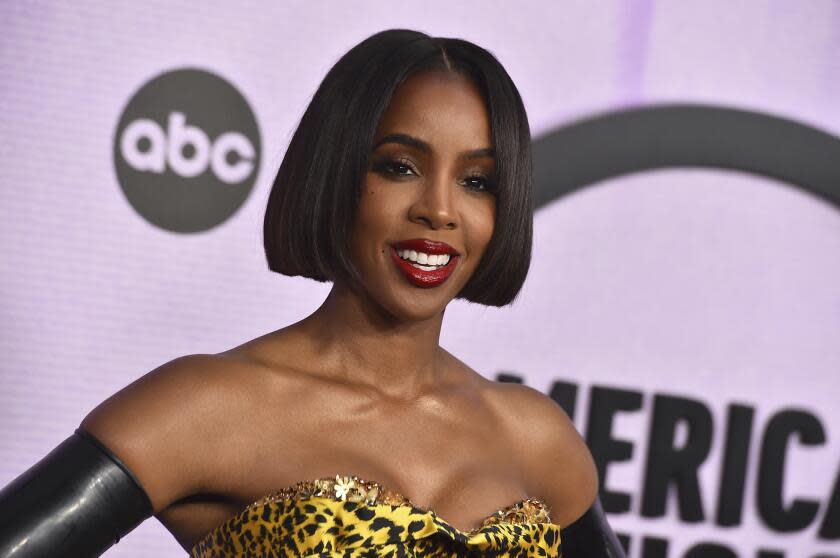
[[[373,142],[351,253],[362,288],[392,316],[440,313],[493,234],[490,122],[479,90],[455,73],[404,81]]]

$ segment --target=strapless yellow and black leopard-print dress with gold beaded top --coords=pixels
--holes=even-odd
[[[193,546],[192,558],[560,556],[560,527],[525,498],[461,531],[430,509],[354,475],[300,481],[264,496]]]

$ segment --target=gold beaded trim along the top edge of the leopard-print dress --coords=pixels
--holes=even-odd
[[[357,502],[367,505],[387,504],[391,506],[410,506],[419,512],[431,514],[440,523],[443,523],[454,531],[467,536],[471,536],[481,531],[488,525],[498,523],[551,523],[551,515],[548,504],[540,498],[526,496],[525,498],[508,504],[480,518],[478,520],[478,527],[464,531],[455,527],[446,519],[440,517],[434,509],[418,506],[409,497],[396,490],[391,490],[380,482],[368,480],[352,474],[336,474],[334,477],[319,477],[315,479],[301,480],[294,484],[274,490],[248,504],[244,509],[232,516],[225,523],[235,519],[242,513],[248,512],[265,504],[282,502],[288,499],[304,499],[312,497],[328,498],[339,502]],[[222,523],[212,529],[206,536],[210,536],[225,523]]]

